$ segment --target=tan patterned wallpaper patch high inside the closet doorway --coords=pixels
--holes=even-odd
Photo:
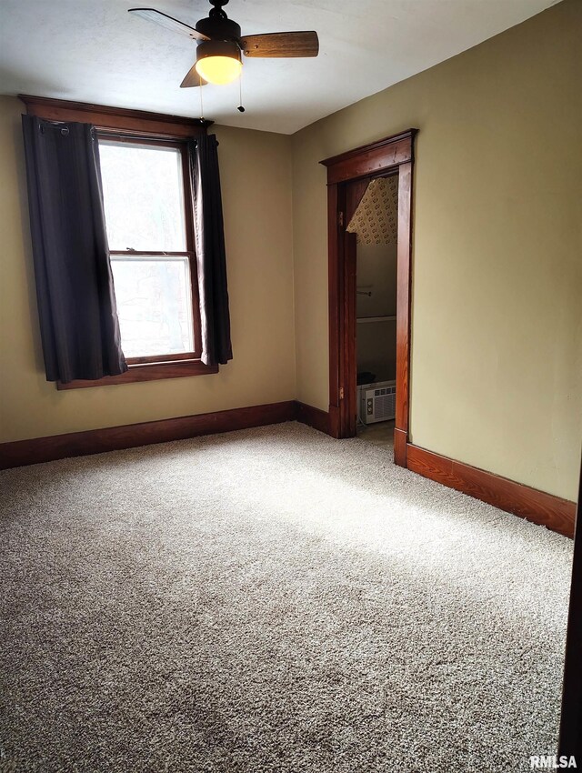
[[[398,176],[377,177],[367,186],[346,231],[358,244],[394,245],[398,240]]]

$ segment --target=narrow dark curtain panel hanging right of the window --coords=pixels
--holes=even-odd
[[[233,358],[217,146],[215,135],[196,137],[189,143],[202,361],[206,365],[225,365]]]

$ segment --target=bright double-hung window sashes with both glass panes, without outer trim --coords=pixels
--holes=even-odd
[[[99,155],[127,363],[199,358],[186,145],[100,136]]]

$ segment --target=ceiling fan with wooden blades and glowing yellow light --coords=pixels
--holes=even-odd
[[[206,18],[196,22],[196,27],[155,8],[130,8],[129,13],[196,40],[196,63],[186,74],[181,88],[234,81],[243,68],[241,52],[263,58],[316,56],[319,53],[319,40],[313,31],[241,35],[240,25],[223,11],[227,3],[228,0],[210,0],[214,7]]]

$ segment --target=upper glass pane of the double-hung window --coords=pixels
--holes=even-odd
[[[184,252],[180,151],[101,140],[99,155],[109,249]]]

